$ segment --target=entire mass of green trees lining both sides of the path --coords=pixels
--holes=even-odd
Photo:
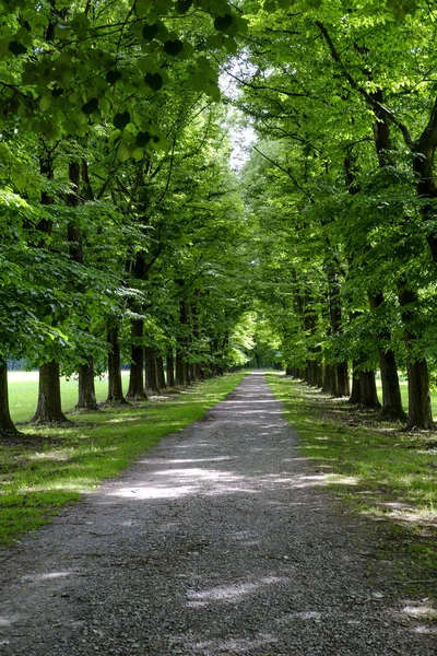
[[[395,419],[401,372],[409,426],[432,425],[428,2],[21,0],[0,19],[0,368],[42,367],[35,421],[64,420],[42,400],[59,371],[90,408],[95,372],[125,402],[120,364],[135,399],[251,363],[375,408],[378,368]]]

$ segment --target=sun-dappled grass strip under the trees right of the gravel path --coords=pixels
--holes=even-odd
[[[268,380],[320,485],[387,529],[381,548],[398,562],[405,585],[421,579],[423,596],[435,598],[437,433],[408,433],[284,376]]]

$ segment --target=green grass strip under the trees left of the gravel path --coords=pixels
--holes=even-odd
[[[72,427],[22,425],[24,437],[0,443],[0,544],[10,544],[46,524],[62,505],[120,473],[164,435],[203,417],[247,373],[228,374],[178,394],[164,393],[152,401],[104,408],[96,414],[71,414]],[[36,382],[10,386],[14,402],[17,394],[21,398],[13,410],[15,421],[28,419],[34,411],[32,385],[36,389]],[[67,398],[64,394],[64,407],[66,402],[74,407],[75,396]]]

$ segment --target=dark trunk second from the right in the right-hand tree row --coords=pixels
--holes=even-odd
[[[368,294],[370,311],[376,309],[383,303],[382,293]],[[377,336],[378,342],[390,342],[391,335],[388,329],[380,331]],[[378,345],[379,371],[381,373],[382,385],[382,408],[381,414],[387,419],[406,419],[405,411],[402,408],[401,388],[399,386],[398,366],[393,351],[385,351]]]

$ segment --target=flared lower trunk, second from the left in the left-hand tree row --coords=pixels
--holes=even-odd
[[[71,423],[62,412],[58,362],[39,367],[38,405],[33,423]]]

